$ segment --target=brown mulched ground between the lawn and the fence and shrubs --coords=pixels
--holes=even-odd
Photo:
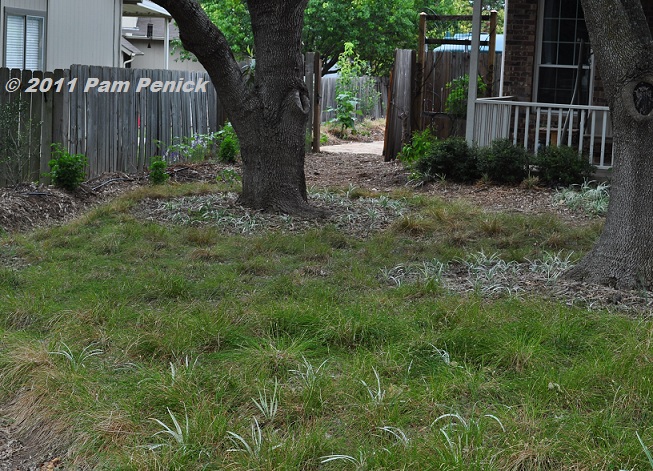
[[[179,164],[171,167],[171,182],[215,182],[225,168],[222,164]],[[416,187],[409,172],[398,162],[384,162],[376,154],[323,152],[306,157],[306,180],[316,188],[350,186],[378,192],[412,189],[447,200],[464,199],[491,211],[525,213],[553,212],[567,220],[585,220],[575,213],[553,205],[550,189],[527,190],[489,185],[458,185],[446,182]],[[22,184],[0,189],[0,232],[27,231],[36,227],[75,218],[90,207],[141,185],[149,184],[147,175],[104,174],[85,182],[74,193],[51,186]]]

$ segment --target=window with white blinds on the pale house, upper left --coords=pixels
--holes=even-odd
[[[45,18],[8,13],[5,25],[5,67],[43,70]]]

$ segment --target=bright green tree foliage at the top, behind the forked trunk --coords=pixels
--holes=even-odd
[[[243,0],[201,0],[211,21],[223,32],[238,59],[253,55],[254,40],[247,4]],[[484,0],[486,9],[503,9],[504,0]],[[418,15],[472,13],[471,0],[309,0],[302,34],[305,52],[319,52],[323,73],[338,61],[347,42],[353,43],[371,72],[385,76],[395,49],[417,46]],[[178,43],[177,46],[181,46]],[[188,57],[182,52],[182,56]]]

